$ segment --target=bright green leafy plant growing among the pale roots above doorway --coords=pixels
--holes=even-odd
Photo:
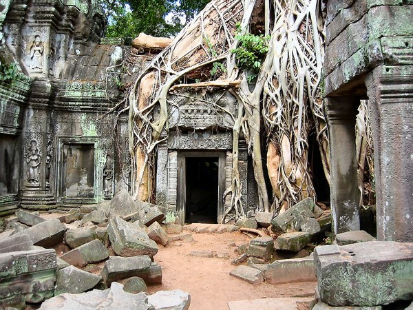
[[[237,66],[244,70],[251,70],[251,76],[254,78],[257,72],[261,69],[261,61],[268,52],[269,36],[264,37],[262,34],[256,36],[241,29],[240,24],[237,24],[235,39],[240,41],[237,48],[231,50],[235,54]]]

